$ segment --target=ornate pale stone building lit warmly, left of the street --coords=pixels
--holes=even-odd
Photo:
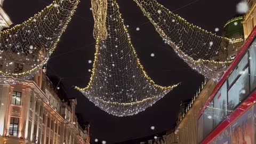
[[[60,99],[43,71],[34,81],[1,77],[0,143],[90,143],[90,125],[79,125],[76,99]],[[5,84],[6,81],[16,84]]]

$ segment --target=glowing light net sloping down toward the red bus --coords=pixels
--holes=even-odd
[[[231,61],[221,57],[230,39],[188,23],[155,0],[134,0],[156,31],[191,68],[218,81]]]

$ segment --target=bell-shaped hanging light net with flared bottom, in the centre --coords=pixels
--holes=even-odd
[[[103,16],[102,16],[103,17]],[[115,0],[107,1],[107,38],[97,38],[91,81],[80,89],[115,116],[130,116],[153,105],[177,85],[156,85],[143,70]]]

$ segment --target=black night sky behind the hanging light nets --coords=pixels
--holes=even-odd
[[[236,15],[236,4],[240,0],[158,0],[165,7],[190,23],[203,29],[222,30],[226,21]],[[132,43],[148,75],[159,85],[181,85],[146,111],[130,117],[115,117],[95,107],[86,97],[74,90],[74,85],[85,87],[90,79],[94,58],[92,37],[93,19],[91,2],[81,0],[76,15],[71,20],[61,41],[47,63],[47,75],[62,78],[69,97],[77,98],[77,112],[82,113],[91,124],[91,138],[114,143],[140,138],[170,129],[176,121],[180,101],[193,97],[203,81],[203,76],[191,70],[156,33],[132,0],[118,0],[120,11]],[[193,4],[187,5],[191,2]],[[51,0],[5,0],[4,9],[14,24],[21,23],[41,11]],[[185,6],[187,5],[187,6]],[[185,7],[182,7],[185,6]],[[181,9],[179,9],[182,7]],[[140,31],[135,30],[140,27]],[[221,31],[218,32],[221,35]],[[155,57],[150,57],[155,53]],[[155,130],[150,130],[155,126]]]

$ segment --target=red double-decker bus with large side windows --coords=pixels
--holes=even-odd
[[[198,114],[198,141],[256,143],[256,28]]]

